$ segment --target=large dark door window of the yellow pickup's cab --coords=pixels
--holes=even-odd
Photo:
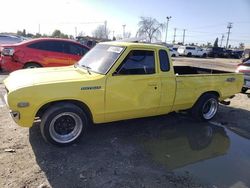
[[[153,51],[132,50],[117,69],[117,74],[154,74],[155,58]]]

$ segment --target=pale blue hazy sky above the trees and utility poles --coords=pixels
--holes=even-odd
[[[6,7],[6,8],[5,8]],[[214,43],[216,37],[226,44],[227,25],[232,22],[229,44],[250,45],[250,0],[0,0],[0,32],[26,29],[29,33],[51,34],[55,29],[73,35],[92,35],[107,21],[114,35],[122,36],[123,27],[134,37],[140,17],[152,17],[168,25],[167,42]],[[161,40],[165,41],[166,29]]]

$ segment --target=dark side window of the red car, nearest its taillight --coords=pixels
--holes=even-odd
[[[63,46],[61,41],[41,41],[28,45],[29,48],[64,53]]]

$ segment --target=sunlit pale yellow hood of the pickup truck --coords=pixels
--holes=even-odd
[[[83,68],[74,66],[25,69],[12,72],[5,80],[4,85],[9,91],[33,85],[71,82],[78,80],[93,80],[102,75],[91,72]]]

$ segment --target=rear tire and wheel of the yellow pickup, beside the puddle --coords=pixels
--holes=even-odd
[[[218,97],[215,94],[205,93],[194,104],[191,114],[197,120],[209,121],[216,115],[218,108]]]

